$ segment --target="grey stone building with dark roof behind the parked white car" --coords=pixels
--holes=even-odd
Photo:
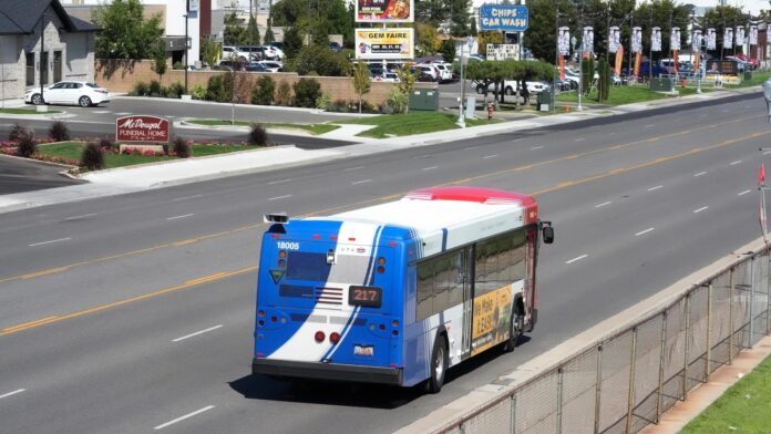
[[[95,32],[59,0],[0,1],[0,100],[62,80],[92,82]]]

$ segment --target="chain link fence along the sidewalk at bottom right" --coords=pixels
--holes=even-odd
[[[768,249],[734,262],[671,302],[441,433],[637,433],[712,372],[771,332]]]

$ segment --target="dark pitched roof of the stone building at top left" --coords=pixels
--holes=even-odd
[[[0,34],[31,34],[40,24],[43,12],[55,13],[68,32],[93,32],[97,28],[70,17],[59,0],[2,0],[0,2]]]

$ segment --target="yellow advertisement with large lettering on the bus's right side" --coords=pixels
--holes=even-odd
[[[513,286],[506,285],[474,298],[471,355],[508,339]]]

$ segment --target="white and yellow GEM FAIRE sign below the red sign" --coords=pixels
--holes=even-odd
[[[356,58],[405,60],[414,58],[414,29],[356,29]]]

